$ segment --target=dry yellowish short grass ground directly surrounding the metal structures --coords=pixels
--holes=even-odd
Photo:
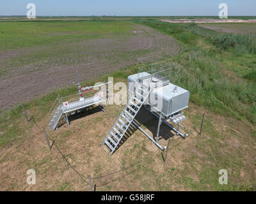
[[[135,71],[134,67],[112,75],[116,82],[125,82],[127,75]],[[65,91],[63,94],[75,93],[76,87]],[[97,178],[125,168],[111,176],[93,179],[93,184],[97,184],[97,191],[255,190],[255,136],[250,124],[208,112],[189,103],[189,109],[185,110],[187,119],[183,123],[185,130],[189,132],[186,140],[173,135],[173,131],[166,126],[161,129],[161,145],[166,146],[168,138],[171,138],[166,164],[163,163],[164,152],[161,154],[136,128],[131,129],[115,154],[108,156],[99,144],[122,106],[109,105],[105,114],[95,109],[75,115],[70,118],[69,127],[61,120],[60,128],[51,132],[47,129],[48,119],[45,115],[55,96],[56,92],[52,92],[26,103],[29,118],[33,117],[41,128],[46,127],[49,137],[55,141],[68,161],[84,175],[87,182],[88,175]],[[205,113],[205,123],[200,136],[198,132],[202,113]],[[157,119],[150,113],[141,110],[136,120],[148,134],[156,135]],[[0,166],[3,179],[0,189],[89,190],[88,184],[67,165],[56,147],[52,147],[51,152],[47,150],[42,131],[35,126],[34,120],[26,122],[21,107],[1,115],[2,131],[4,135],[1,135]],[[6,140],[3,141],[3,138]],[[26,170],[30,168],[36,171],[35,186],[26,184]],[[218,184],[220,169],[228,171],[227,186]]]

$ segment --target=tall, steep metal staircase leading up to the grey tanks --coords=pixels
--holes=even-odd
[[[130,90],[129,93],[129,102],[124,107],[122,112],[120,113],[118,119],[116,119],[115,124],[110,129],[108,135],[104,139],[101,145],[106,144],[109,153],[113,154],[118,146],[118,143],[122,140],[123,136],[125,135],[127,129],[132,123],[132,120],[135,118],[137,113],[139,112],[141,106],[148,98],[149,94],[149,87],[152,77],[149,77],[146,82],[135,83]],[[134,87],[139,86],[138,90],[140,92],[134,93]]]

